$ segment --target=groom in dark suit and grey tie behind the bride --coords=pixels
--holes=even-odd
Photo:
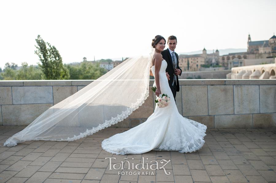
[[[174,101],[176,92],[179,91],[179,82],[178,75],[181,75],[182,70],[179,68],[178,54],[174,52],[174,49],[177,45],[177,39],[175,36],[171,35],[168,37],[167,42],[169,48],[161,52],[163,59],[167,62],[166,72],[168,73],[168,82],[171,88],[171,91],[174,95]],[[168,76],[167,75],[167,76]]]

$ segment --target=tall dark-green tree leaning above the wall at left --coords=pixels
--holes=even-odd
[[[36,51],[41,62],[38,66],[42,69],[42,79],[69,79],[69,71],[62,63],[62,57],[55,46],[52,46],[48,42],[37,36],[36,39]]]

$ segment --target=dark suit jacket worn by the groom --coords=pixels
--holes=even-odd
[[[166,72],[170,75],[169,85],[171,87],[172,82],[174,80],[174,66],[173,66],[172,59],[171,59],[171,53],[170,53],[169,49],[165,49],[163,52],[161,52],[161,54],[162,54],[163,59],[165,59],[166,62],[167,62]],[[179,61],[178,61],[178,54],[175,53],[175,56],[176,56],[176,59],[177,59],[177,67],[176,68],[180,69],[179,68]],[[182,70],[181,70],[181,73],[182,73]],[[180,75],[181,75],[181,73],[180,73]],[[176,91],[179,91],[178,75],[176,76],[176,83],[177,83]]]

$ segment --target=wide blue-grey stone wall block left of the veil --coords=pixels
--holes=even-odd
[[[13,104],[53,103],[52,86],[13,86]]]

